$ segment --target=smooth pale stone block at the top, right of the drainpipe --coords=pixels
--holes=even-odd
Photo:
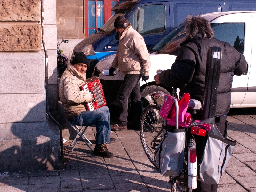
[[[44,24],[56,24],[56,0],[44,0]]]

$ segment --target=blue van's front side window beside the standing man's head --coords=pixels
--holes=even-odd
[[[142,35],[163,33],[165,31],[165,6],[145,5],[139,9],[137,31]]]

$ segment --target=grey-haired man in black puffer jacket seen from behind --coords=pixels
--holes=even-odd
[[[244,55],[230,44],[215,39],[209,21],[203,17],[189,15],[184,24],[186,40],[180,44],[181,48],[171,69],[155,75],[155,82],[180,88],[180,95],[189,93],[192,99],[199,100],[203,104],[208,49],[213,46],[222,48],[215,121],[220,133],[226,136],[232,80],[234,75],[240,76],[246,71]],[[201,116],[195,118],[198,119]],[[198,181],[197,189],[193,191],[216,192],[217,188],[217,184],[211,185]]]

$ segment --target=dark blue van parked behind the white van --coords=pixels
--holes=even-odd
[[[90,61],[86,71],[92,76],[95,65],[104,57],[115,54],[118,40],[114,20],[124,16],[144,38],[148,49],[158,43],[173,28],[179,26],[188,15],[224,11],[256,11],[255,0],[134,0],[116,4],[112,17],[96,33],[78,43],[71,57],[80,51]]]

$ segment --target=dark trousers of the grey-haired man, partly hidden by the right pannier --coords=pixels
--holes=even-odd
[[[219,116],[215,118],[215,124],[218,127],[220,133],[226,137],[227,135],[227,116]],[[197,188],[193,192],[217,192],[218,184],[207,184],[197,180]]]

